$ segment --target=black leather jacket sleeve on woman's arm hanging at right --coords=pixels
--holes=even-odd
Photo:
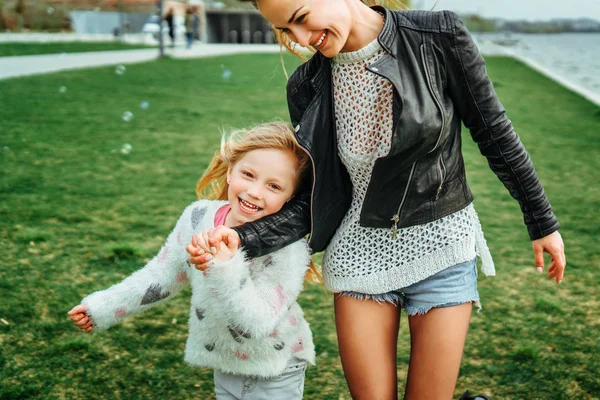
[[[490,81],[483,57],[458,16],[451,21],[448,55],[450,95],[481,154],[523,212],[532,240],[558,230],[558,220],[535,172],[529,154],[506,117]]]

